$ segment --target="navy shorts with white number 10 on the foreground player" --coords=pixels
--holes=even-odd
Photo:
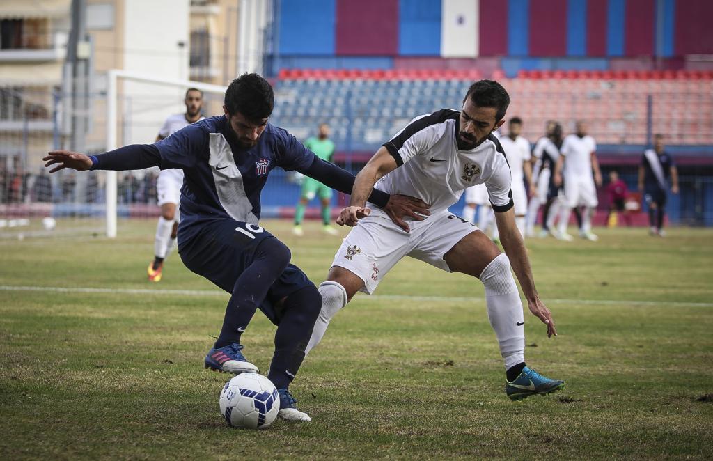
[[[190,231],[178,230],[178,253],[185,267],[228,293],[232,293],[237,278],[252,263],[257,245],[270,245],[272,239],[279,241],[260,226],[232,219],[204,220],[191,223],[190,227]],[[189,238],[182,238],[187,234]],[[314,287],[314,284],[307,275],[296,265],[289,264],[267,291],[260,310],[278,325],[282,317],[280,301],[309,286]]]

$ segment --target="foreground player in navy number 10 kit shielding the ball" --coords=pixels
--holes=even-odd
[[[178,226],[183,263],[232,293],[220,336],[205,357],[205,368],[257,372],[242,355],[240,338],[255,310],[277,325],[275,355],[267,378],[279,390],[279,416],[309,421],[294,407],[289,383],[304,359],[322,297],[302,270],[289,263],[284,243],[258,224],[260,191],[276,166],[296,170],[350,193],[354,176],[322,161],[294,136],[267,123],[274,96],[257,74],[236,78],[225,92],[225,115],[206,118],[152,145],[132,145],[99,156],[52,151],[46,166],[85,170],[134,170],[159,166],[184,172]],[[386,207],[394,221],[427,213],[425,203],[374,190],[371,203]],[[422,219],[422,218],[420,218]]]

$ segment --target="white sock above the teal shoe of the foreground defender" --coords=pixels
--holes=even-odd
[[[525,327],[523,303],[510,271],[510,260],[498,255],[481,273],[486,288],[488,319],[495,330],[505,369],[525,361]]]

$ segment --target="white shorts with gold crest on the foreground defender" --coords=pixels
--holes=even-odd
[[[442,211],[424,221],[409,222],[411,232],[404,232],[379,208],[359,221],[334,255],[332,266],[345,268],[364,280],[361,291],[371,295],[386,273],[404,258],[411,256],[447,270],[443,255],[448,253],[476,226],[449,211]]]

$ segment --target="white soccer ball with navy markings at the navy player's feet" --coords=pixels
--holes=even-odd
[[[279,412],[279,395],[272,381],[257,373],[241,373],[220,392],[220,414],[233,427],[264,429]]]

